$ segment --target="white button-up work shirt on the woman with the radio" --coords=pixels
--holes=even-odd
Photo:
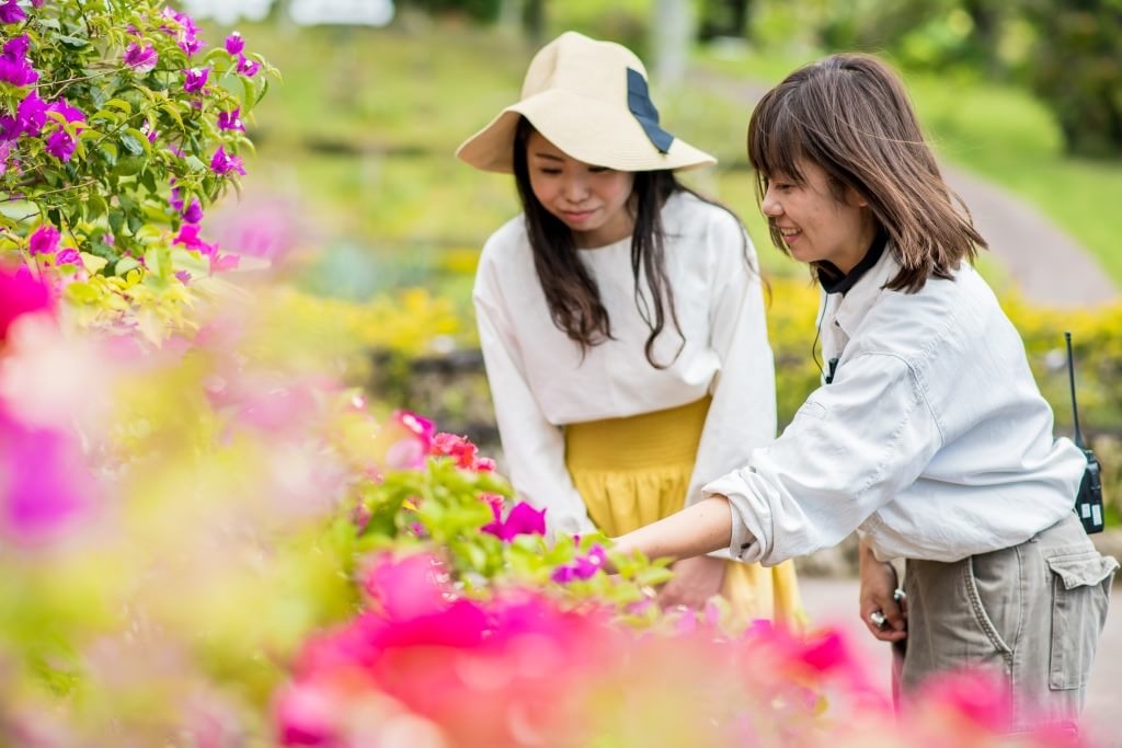
[[[824,297],[834,381],[746,467],[705,487],[730,499],[742,560],[776,564],[856,529],[881,560],[951,562],[1072,511],[1086,460],[1054,437],[990,287],[964,264],[917,294],[883,288],[898,270],[886,250],[848,293]]]

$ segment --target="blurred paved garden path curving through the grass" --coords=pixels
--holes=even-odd
[[[742,103],[745,111],[763,95],[756,83],[698,68],[686,85],[698,85]],[[965,168],[940,165],[944,177],[971,210],[990,243],[990,255],[1031,303],[1054,307],[1092,306],[1122,298],[1097,260],[1041,211]]]

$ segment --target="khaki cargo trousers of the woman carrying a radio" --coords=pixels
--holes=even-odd
[[[928,676],[1000,673],[1012,729],[1078,724],[1118,561],[1075,514],[1029,541],[954,563],[908,560],[901,708]]]

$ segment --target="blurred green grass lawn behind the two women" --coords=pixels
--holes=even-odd
[[[241,31],[284,75],[254,112],[259,148],[245,188],[255,196],[295,194],[325,246],[478,248],[517,211],[508,176],[477,172],[452,155],[516,99],[534,53],[516,36],[448,22]],[[745,220],[772,274],[800,270],[771,247],[744,130],[755,96],[812,57],[712,49],[698,54],[679,90],[659,90],[655,81],[668,129],[721,161],[687,181]],[[1047,111],[1018,91],[918,76],[908,83],[944,157],[1039,206],[1122,285],[1122,163],[1064,158]]]

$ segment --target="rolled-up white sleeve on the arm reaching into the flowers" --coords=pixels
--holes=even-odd
[[[729,499],[729,552],[774,565],[839,543],[910,486],[941,444],[908,363],[868,353],[844,361],[773,444],[702,493]]]

